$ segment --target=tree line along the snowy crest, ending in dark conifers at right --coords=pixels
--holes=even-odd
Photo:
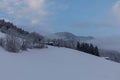
[[[47,44],[52,46],[57,46],[57,47],[75,49],[75,50],[86,52],[95,56],[100,56],[98,47],[89,43],[65,41],[62,39],[53,39],[53,40],[48,40]]]

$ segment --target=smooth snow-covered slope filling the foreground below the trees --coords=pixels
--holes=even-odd
[[[66,48],[0,48],[0,80],[120,80],[120,64]]]

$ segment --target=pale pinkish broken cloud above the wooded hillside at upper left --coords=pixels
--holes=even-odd
[[[0,11],[19,24],[43,25],[50,13],[47,4],[46,0],[1,0]]]

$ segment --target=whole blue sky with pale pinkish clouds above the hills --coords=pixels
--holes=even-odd
[[[120,35],[120,0],[0,0],[0,18],[37,32]]]

